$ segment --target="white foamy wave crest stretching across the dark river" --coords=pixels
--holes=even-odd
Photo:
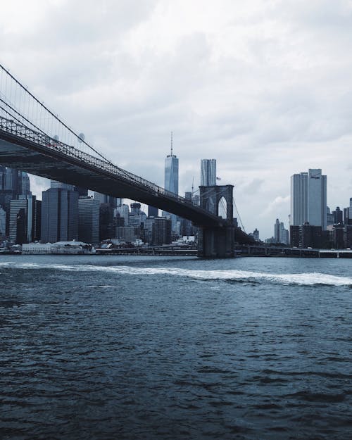
[[[341,277],[319,272],[275,274],[253,272],[246,270],[195,270],[181,268],[136,268],[132,266],[101,266],[101,265],[65,265],[65,264],[38,264],[38,263],[0,263],[1,268],[16,269],[51,269],[68,272],[109,272],[123,275],[168,275],[188,277],[192,279],[221,279],[233,282],[275,282],[279,284],[314,285],[325,284],[331,286],[352,286],[352,277]]]

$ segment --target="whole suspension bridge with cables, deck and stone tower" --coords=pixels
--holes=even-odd
[[[0,163],[59,182],[127,198],[179,215],[200,228],[199,256],[233,256],[251,242],[233,223],[232,185],[200,187],[200,206],[123,170],[88,144],[0,64]],[[226,217],[218,215],[226,201]],[[211,201],[211,203],[210,203]]]

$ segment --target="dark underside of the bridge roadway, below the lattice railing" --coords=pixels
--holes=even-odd
[[[200,227],[221,227],[221,219],[207,215],[189,202],[165,194],[155,194],[141,184],[134,184],[111,172],[70,158],[58,151],[0,132],[0,164],[47,179],[58,180],[107,194],[146,203],[180,215]]]

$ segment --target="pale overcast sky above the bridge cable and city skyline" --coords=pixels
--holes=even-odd
[[[180,194],[201,158],[234,184],[247,232],[288,227],[289,177],[352,197],[351,0],[12,0],[0,61],[117,165]],[[46,182],[32,178],[34,193]]]

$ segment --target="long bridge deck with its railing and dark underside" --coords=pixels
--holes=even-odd
[[[67,182],[114,197],[146,203],[187,218],[195,225],[221,227],[225,220],[142,177],[87,153],[1,119],[0,163],[33,175]]]

